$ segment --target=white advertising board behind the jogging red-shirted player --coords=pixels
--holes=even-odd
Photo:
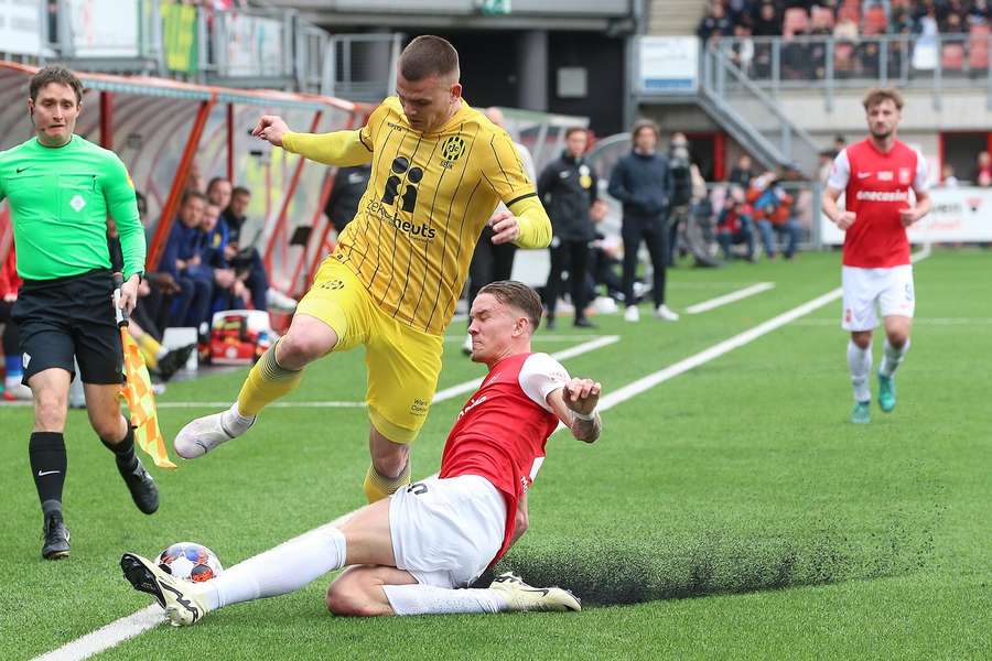
[[[930,201],[930,213],[908,230],[910,242],[992,241],[992,188],[931,188]],[[828,246],[844,242],[844,232],[826,215],[820,219],[820,237]]]

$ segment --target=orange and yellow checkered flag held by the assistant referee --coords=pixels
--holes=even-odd
[[[115,273],[117,278],[118,274]],[[120,342],[123,345],[125,383],[120,387],[120,397],[128,403],[131,426],[134,427],[134,442],[154,459],[159,468],[175,468],[165,452],[165,438],[159,430],[159,416],[155,412],[155,392],[152,390],[151,377],[144,358],[138,349],[138,343],[128,333],[128,314],[119,307],[120,281],[114,292],[117,313],[117,325],[120,327]]]

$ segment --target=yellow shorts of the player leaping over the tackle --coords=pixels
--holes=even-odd
[[[395,443],[417,438],[438,389],[443,337],[382,312],[362,281],[333,257],[321,263],[296,314],[316,317],[334,329],[338,339],[333,351],[365,345],[369,420]]]

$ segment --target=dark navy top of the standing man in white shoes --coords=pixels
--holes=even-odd
[[[659,153],[632,151],[610,174],[610,194],[624,206],[624,221],[658,220],[665,217],[671,197],[668,159]]]

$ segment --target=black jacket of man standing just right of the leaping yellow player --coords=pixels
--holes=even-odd
[[[556,237],[591,241],[595,236],[589,209],[596,201],[596,173],[585,159],[568,153],[548,163],[538,177],[538,195],[551,218]]]

